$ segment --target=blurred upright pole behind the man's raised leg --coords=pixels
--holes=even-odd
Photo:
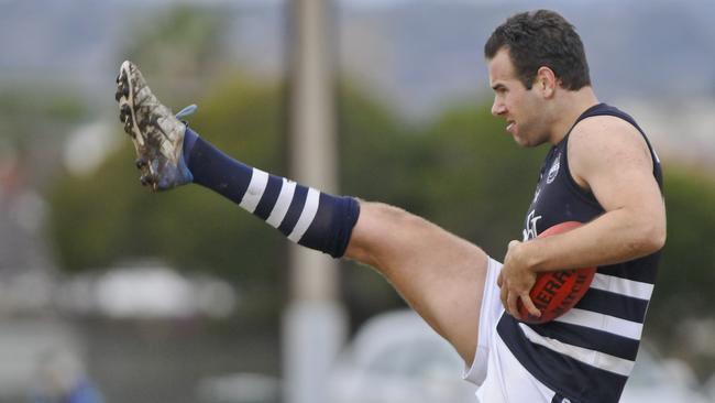
[[[336,193],[338,164],[330,0],[290,0],[290,176]],[[332,258],[289,247],[290,302],[283,328],[285,403],[330,403],[326,379],[344,344],[346,315]]]

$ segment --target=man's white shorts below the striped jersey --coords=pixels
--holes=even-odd
[[[569,403],[534,378],[514,357],[496,331],[504,314],[496,279],[502,263],[490,258],[482,297],[476,352],[472,367],[464,371],[466,381],[480,386],[483,403]]]

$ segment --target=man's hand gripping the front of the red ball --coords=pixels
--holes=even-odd
[[[504,266],[496,280],[497,285],[502,288],[502,305],[515,318],[520,318],[517,298],[521,298],[521,303],[531,315],[541,316],[541,312],[537,309],[529,296],[537,275],[527,264],[525,251],[522,242],[509,242],[506,257],[504,257]]]

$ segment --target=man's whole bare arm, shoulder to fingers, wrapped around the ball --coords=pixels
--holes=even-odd
[[[629,123],[597,117],[576,126],[569,140],[569,168],[605,214],[563,235],[513,241],[501,283],[507,311],[516,313],[536,273],[625,262],[648,255],[666,242],[666,208],[652,175],[642,135]]]

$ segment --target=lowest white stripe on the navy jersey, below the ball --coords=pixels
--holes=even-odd
[[[519,324],[519,327],[524,331],[526,338],[531,342],[543,346],[550,350],[571,357],[574,360],[608,372],[628,377],[632,371],[634,366],[636,364],[635,361],[614,357],[605,352],[590,350],[579,346],[568,345],[550,337],[543,337],[538,333],[531,330],[531,328],[525,324]]]

